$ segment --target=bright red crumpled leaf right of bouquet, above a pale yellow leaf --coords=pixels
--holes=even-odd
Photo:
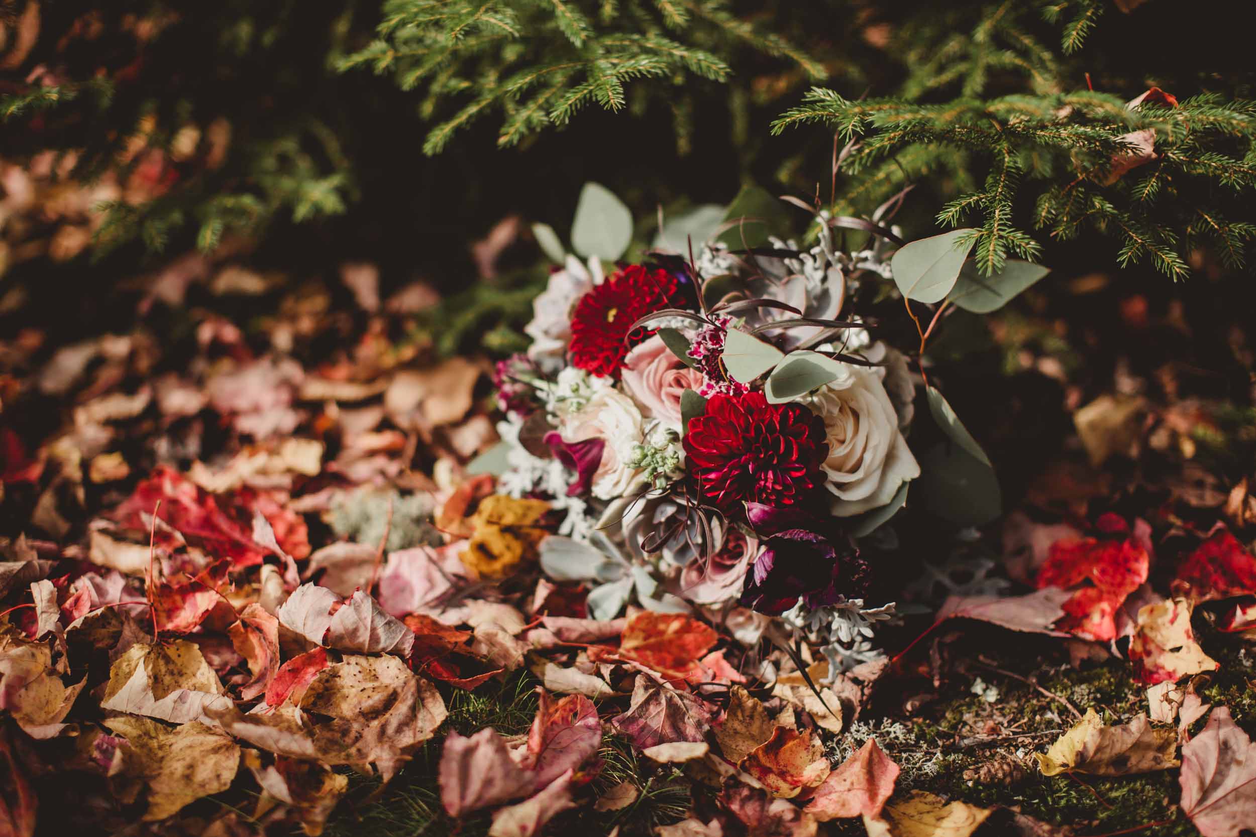
[[[1083,639],[1107,642],[1117,636],[1117,609],[1147,581],[1150,556],[1133,537],[1056,541],[1037,572],[1037,586],[1069,589],[1089,581],[1064,602],[1056,627]]]

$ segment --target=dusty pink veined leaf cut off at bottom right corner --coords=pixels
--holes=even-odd
[[[1256,829],[1256,745],[1217,706],[1203,730],[1182,747],[1182,811],[1203,837]]]

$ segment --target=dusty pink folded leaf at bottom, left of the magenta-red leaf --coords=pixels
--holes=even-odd
[[[441,804],[451,817],[499,806],[531,793],[536,779],[519,767],[491,727],[470,738],[450,732],[440,764]]]

